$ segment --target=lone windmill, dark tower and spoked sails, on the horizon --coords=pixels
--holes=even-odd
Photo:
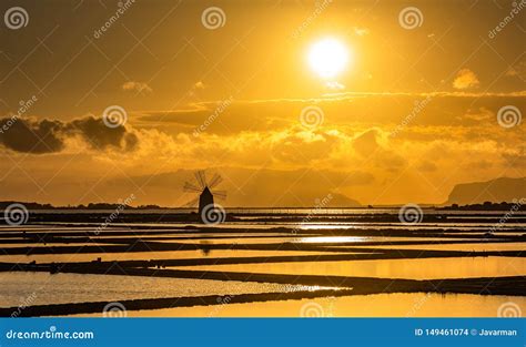
[[[198,171],[194,175],[196,184],[185,182],[184,191],[189,193],[198,193],[199,196],[188,203],[186,206],[194,207],[199,203],[199,217],[202,223],[205,223],[206,221],[203,221],[204,212],[206,210],[215,210],[214,196],[218,197],[218,200],[223,200],[226,197],[226,192],[214,191],[214,187],[223,181],[219,174],[215,174],[210,182],[206,182],[206,174],[204,171]]]

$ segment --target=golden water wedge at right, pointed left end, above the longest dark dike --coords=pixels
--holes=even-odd
[[[259,274],[439,279],[526,276],[526,258],[451,257],[342,262],[290,262],[250,265],[201,265],[184,267],[184,269],[251,272]]]

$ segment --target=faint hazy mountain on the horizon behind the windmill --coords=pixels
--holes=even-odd
[[[183,191],[185,181],[193,182],[193,170],[179,170],[156,175],[131,176],[144,194],[138,194],[138,203],[155,203],[164,206],[184,206],[195,198],[195,194]],[[218,191],[226,192],[226,200],[218,200],[224,207],[360,207],[356,200],[338,193],[338,187],[365,184],[374,177],[364,174],[316,170],[250,170],[220,167],[209,170],[209,175],[219,173],[223,181]],[[104,185],[105,184],[105,185]],[[108,191],[127,196],[134,192],[127,180],[110,180],[100,184]],[[148,198],[148,201],[146,201]]]

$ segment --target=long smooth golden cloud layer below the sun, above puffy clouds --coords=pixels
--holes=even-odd
[[[198,102],[176,110],[138,111],[133,121],[138,129],[158,127],[169,134],[191,134],[202,124],[206,124],[205,133],[214,135],[264,133],[301,125],[302,110],[316,105],[324,114],[322,129],[363,132],[367,126],[395,130],[404,124],[401,131],[404,135],[412,126],[472,126],[477,120],[495,123],[495,114],[503,105],[523,109],[526,105],[525,96],[526,91],[342,92],[316,99],[234,100],[226,108],[222,106],[225,100]],[[428,102],[423,103],[424,100]]]

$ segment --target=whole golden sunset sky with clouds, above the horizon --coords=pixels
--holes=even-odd
[[[0,200],[180,206],[206,169],[226,206],[443,203],[458,183],[526,176],[524,1],[33,0],[1,13],[13,7],[27,17],[0,31]],[[331,79],[308,64],[326,39],[348,54]],[[125,122],[107,126],[108,108]]]

